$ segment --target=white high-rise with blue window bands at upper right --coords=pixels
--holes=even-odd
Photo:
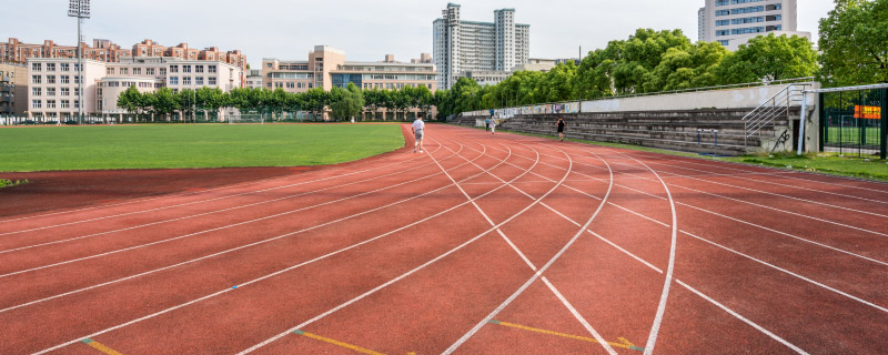
[[[699,39],[736,50],[749,39],[768,34],[796,34],[798,0],[706,0],[697,12]]]

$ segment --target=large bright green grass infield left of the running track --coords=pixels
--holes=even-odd
[[[323,165],[404,146],[397,124],[0,129],[0,171]]]

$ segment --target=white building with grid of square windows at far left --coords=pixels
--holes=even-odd
[[[128,113],[118,108],[118,97],[130,87],[150,92],[170,88],[241,88],[243,72],[221,61],[185,60],[168,57],[130,58],[119,62],[83,60],[83,72],[77,75],[74,58],[32,58],[27,63],[28,116],[42,121],[65,121],[77,118],[80,81],[83,81],[83,114],[114,118]]]

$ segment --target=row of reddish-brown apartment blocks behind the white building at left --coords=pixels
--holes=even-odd
[[[92,47],[80,43],[83,51],[83,59],[100,62],[119,62],[121,60],[145,57],[167,57],[184,60],[205,60],[220,61],[242,70],[246,69],[246,55],[240,50],[222,52],[219,48],[211,47],[203,50],[189,48],[188,43],[180,43],[175,47],[164,47],[154,43],[152,40],[144,40],[134,44],[131,49],[121,48],[109,40],[92,40]],[[58,45],[53,41],[46,40],[42,44],[22,43],[18,39],[10,38],[7,42],[0,42],[0,61],[24,63],[32,58],[77,58],[75,45]]]

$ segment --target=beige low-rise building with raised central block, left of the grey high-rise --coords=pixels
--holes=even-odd
[[[402,89],[424,85],[437,90],[437,73],[431,55],[402,63],[394,55],[380,62],[346,62],[345,52],[327,45],[315,45],[309,60],[262,60],[262,82],[265,89],[305,92],[320,88],[345,88],[349,83],[361,89]]]

